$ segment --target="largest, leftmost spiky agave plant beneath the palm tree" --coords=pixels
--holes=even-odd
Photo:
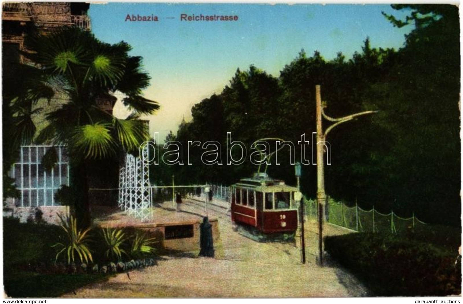
[[[58,260],[58,257],[63,252],[66,252],[68,254],[68,263],[71,263],[71,261],[75,262],[76,254],[79,256],[81,262],[93,262],[92,252],[88,249],[88,231],[91,230],[91,227],[82,231],[77,228],[77,220],[72,215],[65,219],[59,214],[58,216],[61,220],[60,226],[66,232],[66,240],[52,246],[57,248],[56,260]]]

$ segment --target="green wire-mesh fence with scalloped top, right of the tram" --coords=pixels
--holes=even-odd
[[[318,219],[318,207],[316,200],[307,200],[304,198],[306,205],[306,216],[308,218]],[[347,206],[343,202],[337,202],[329,199],[325,205],[325,220],[333,225],[338,225],[359,232],[391,232],[405,233],[407,231],[416,231],[428,224],[420,221],[414,213],[409,218],[402,218],[391,211],[383,214],[375,210],[363,210],[355,206]]]

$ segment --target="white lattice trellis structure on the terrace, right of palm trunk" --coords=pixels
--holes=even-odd
[[[147,146],[145,153],[148,153]],[[119,208],[143,222],[151,222],[152,207],[149,166],[127,154],[125,166],[119,170]]]

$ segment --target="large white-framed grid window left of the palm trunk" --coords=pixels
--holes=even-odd
[[[42,158],[49,149],[56,149],[58,162],[47,171]],[[13,164],[10,176],[21,197],[14,203],[20,207],[56,206],[55,193],[61,185],[69,185],[69,158],[63,146],[21,146],[19,162]]]

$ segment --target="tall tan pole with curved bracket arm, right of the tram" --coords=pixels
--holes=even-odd
[[[325,104],[321,101],[320,85],[315,86],[315,99],[316,99],[316,110],[317,110],[317,204],[318,204],[318,229],[319,229],[319,256],[318,262],[319,265],[323,265],[323,220],[325,216],[325,203],[326,203],[326,194],[325,194],[325,168],[323,162],[324,156],[324,147],[326,147],[326,152],[329,153],[329,143],[325,141],[328,133],[336,126],[343,122],[348,122],[357,116],[376,113],[377,111],[364,111],[349,116],[341,118],[332,118],[327,116],[323,110],[326,107]],[[330,122],[334,122],[330,127],[328,127],[325,132],[322,127],[322,118]]]

